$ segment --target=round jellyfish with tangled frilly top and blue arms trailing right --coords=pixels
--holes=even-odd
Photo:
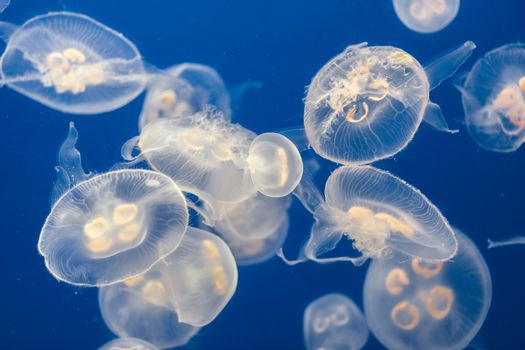
[[[360,165],[401,151],[422,120],[451,131],[429,93],[452,76],[474,48],[467,41],[422,67],[396,47],[349,46],[321,68],[308,88],[308,141],[323,158]]]

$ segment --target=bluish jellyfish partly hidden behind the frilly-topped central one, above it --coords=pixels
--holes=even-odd
[[[191,116],[208,106],[231,118],[230,95],[220,75],[202,64],[179,64],[157,75],[148,87],[139,128],[161,118]]]

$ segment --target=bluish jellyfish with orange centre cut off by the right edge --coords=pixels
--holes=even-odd
[[[525,44],[486,53],[458,78],[467,130],[482,148],[512,152],[525,141]]]

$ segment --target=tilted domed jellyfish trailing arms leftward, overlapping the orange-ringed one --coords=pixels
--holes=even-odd
[[[293,265],[368,258],[385,259],[394,251],[409,256],[448,260],[456,254],[454,231],[439,209],[418,189],[402,179],[371,166],[342,166],[325,185],[325,199],[315,186],[302,181],[296,195],[314,215],[310,237]],[[352,240],[358,256],[321,257],[333,251],[343,237]]]

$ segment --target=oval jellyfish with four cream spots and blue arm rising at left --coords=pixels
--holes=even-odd
[[[49,272],[74,285],[103,286],[150,269],[180,244],[186,200],[166,175],[122,169],[82,170],[73,123],[62,144],[56,198],[38,250]]]

